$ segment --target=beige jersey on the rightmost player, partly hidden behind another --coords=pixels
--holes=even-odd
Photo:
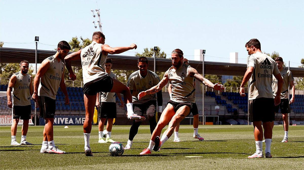
[[[288,98],[289,82],[294,81],[295,79],[293,78],[291,71],[288,70],[287,68],[283,68],[280,73],[283,78],[281,98]],[[273,76],[273,78],[272,78],[273,97],[275,97],[277,95],[277,91],[278,91],[278,80],[275,78],[275,76]]]

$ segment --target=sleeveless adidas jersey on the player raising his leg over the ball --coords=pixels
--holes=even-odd
[[[81,50],[80,58],[84,84],[96,78],[107,76],[105,72],[107,55],[102,54],[101,46],[102,44],[93,41]]]

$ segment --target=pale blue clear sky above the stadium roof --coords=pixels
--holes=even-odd
[[[194,49],[206,49],[206,61],[229,62],[230,52],[239,52],[246,63],[245,43],[258,38],[263,52],[276,51],[292,67],[300,65],[304,52],[304,2],[295,1],[101,1],[106,44],[138,48],[159,46],[167,58],[180,48],[194,59]],[[94,31],[87,1],[0,1],[0,41],[3,47],[53,50],[61,40],[73,36],[91,38]],[[55,45],[55,46],[51,46]],[[213,57],[211,57],[213,56]],[[218,58],[220,57],[220,58]]]

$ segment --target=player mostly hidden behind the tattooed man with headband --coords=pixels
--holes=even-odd
[[[183,59],[183,62],[184,64],[188,65],[188,59],[187,58],[184,58]],[[193,81],[193,85],[195,87],[195,79]],[[170,95],[170,98],[171,98],[171,94],[172,94],[172,84],[169,84],[168,86],[168,92],[169,92],[169,95]],[[193,92],[194,95],[195,95],[195,92]],[[193,115],[193,129],[194,129],[194,132],[193,132],[193,138],[195,139],[199,139],[200,141],[203,141],[204,138],[201,137],[201,135],[199,135],[199,110],[197,108],[197,105],[196,103],[193,103],[193,107],[191,109],[192,112],[192,115]],[[179,124],[176,125],[175,129],[174,129],[174,142],[180,142],[181,139],[178,138],[178,130],[179,130]]]

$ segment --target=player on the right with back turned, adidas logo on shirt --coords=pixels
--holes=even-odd
[[[253,38],[245,47],[248,51],[247,71],[240,86],[240,95],[245,96],[244,85],[249,83],[249,121],[253,122],[256,152],[248,158],[263,158],[263,128],[265,137],[265,157],[271,158],[271,122],[275,119],[275,105],[280,103],[280,96],[273,98],[272,77],[278,79],[278,94],[281,94],[282,77],[275,61],[261,52],[261,43]],[[263,122],[263,128],[262,128]]]

